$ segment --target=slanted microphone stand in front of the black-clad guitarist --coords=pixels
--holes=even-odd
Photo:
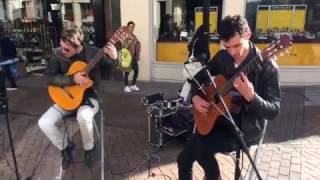
[[[208,74],[208,76],[209,76],[209,78],[210,78],[210,81],[211,81],[211,83],[213,84],[214,88],[217,88],[216,83],[214,82],[214,80],[213,80],[213,78],[212,78],[212,76],[211,76],[211,73],[209,72],[209,70],[208,70],[207,68],[206,68],[206,72],[207,72],[207,74]],[[197,80],[196,80],[196,81],[197,81]],[[201,89],[202,89],[202,88],[201,88]],[[258,170],[257,166],[255,165],[255,163],[254,163],[254,161],[253,161],[253,159],[252,159],[252,157],[251,157],[251,155],[250,155],[250,153],[249,153],[249,148],[248,148],[248,146],[247,146],[247,144],[246,144],[246,142],[245,142],[245,140],[244,140],[244,138],[243,138],[243,133],[242,133],[242,131],[238,128],[238,126],[236,125],[234,119],[232,118],[232,115],[231,115],[231,113],[230,113],[230,111],[229,111],[229,109],[228,109],[228,107],[227,107],[224,99],[222,98],[221,94],[219,94],[219,93],[216,93],[216,94],[215,94],[215,97],[213,97],[213,98],[218,98],[218,101],[222,103],[222,105],[223,105],[223,107],[224,107],[227,115],[224,114],[224,113],[221,113],[221,110],[219,109],[219,107],[217,107],[217,106],[215,105],[215,103],[214,103],[212,100],[210,100],[210,103],[211,103],[218,111],[220,111],[220,113],[223,114],[223,116],[226,117],[226,119],[227,119],[227,120],[231,123],[231,125],[233,126],[234,132],[235,132],[235,134],[237,135],[237,138],[238,138],[238,140],[239,140],[239,142],[240,142],[240,145],[241,145],[241,147],[242,147],[242,150],[246,153],[246,155],[247,155],[247,157],[248,157],[248,159],[249,159],[249,161],[250,161],[253,169],[255,170],[255,172],[256,172],[256,174],[257,174],[257,178],[258,178],[259,180],[262,180],[262,177],[261,177],[261,175],[260,175],[260,173],[259,173],[259,170]],[[237,152],[237,158],[240,158],[240,152]],[[237,163],[236,163],[235,179],[239,179],[240,173],[241,173],[241,172],[240,172],[240,169],[239,169],[239,164],[238,164],[238,163],[239,163],[239,160],[237,159],[236,162],[237,162]]]

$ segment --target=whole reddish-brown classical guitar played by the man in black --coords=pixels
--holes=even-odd
[[[253,57],[249,62],[244,65],[235,75],[233,75],[229,80],[226,80],[224,76],[218,75],[214,78],[216,86],[210,84],[205,87],[205,100],[210,102],[211,107],[207,113],[201,113],[193,107],[195,124],[198,132],[201,135],[208,134],[214,127],[218,116],[225,113],[225,108],[221,101],[217,100],[217,95],[221,95],[228,110],[233,107],[231,90],[233,89],[233,81],[239,76],[240,72],[244,74],[249,74],[254,69],[258,68],[259,65],[270,57],[276,56],[278,53],[287,49],[291,45],[290,37],[283,35],[276,42],[272,42],[269,46],[261,51],[260,55]],[[220,109],[220,112],[217,110]]]

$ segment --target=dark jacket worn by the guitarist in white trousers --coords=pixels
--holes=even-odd
[[[75,61],[83,61],[88,63],[98,53],[99,49],[96,47],[84,46],[83,51],[73,57],[66,58],[60,48],[54,50],[51,55],[48,66],[46,69],[46,75],[48,76],[48,84],[55,86],[70,86],[74,85],[73,75],[66,75],[70,65]],[[101,80],[101,65],[106,63],[105,58],[100,60],[98,64],[90,71],[89,77],[93,80],[94,84],[91,88],[88,88],[84,95],[84,100],[88,97],[97,98],[97,91],[100,90],[99,82]]]

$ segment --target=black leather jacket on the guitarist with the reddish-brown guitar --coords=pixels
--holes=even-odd
[[[226,50],[219,51],[208,65],[208,69],[212,75],[223,75],[227,80],[235,73],[256,57],[259,50],[250,43],[250,52],[247,58],[238,68],[234,66],[233,58]],[[264,119],[274,119],[280,110],[280,85],[279,85],[279,70],[277,65],[271,59],[265,59],[260,63],[260,67],[254,69],[247,75],[248,79],[253,83],[255,89],[255,97],[251,102],[242,100],[240,114],[235,115],[234,119],[240,126],[240,129],[245,135],[245,140],[248,144],[256,144],[261,137],[263,130]],[[200,81],[205,82],[205,75],[200,78]],[[192,89],[193,96],[202,93],[198,90],[195,84]],[[229,125],[229,126],[228,126]],[[222,116],[217,121],[215,128],[231,128],[229,122]],[[213,131],[215,130],[213,128]]]

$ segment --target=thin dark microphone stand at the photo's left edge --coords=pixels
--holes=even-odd
[[[16,179],[19,180],[19,171],[18,171],[18,166],[17,166],[17,160],[16,160],[16,155],[15,155],[15,150],[14,150],[14,145],[13,145],[13,139],[12,139],[12,133],[11,133],[11,128],[10,128],[10,122],[9,122],[9,108],[8,108],[8,98],[6,95],[6,86],[5,86],[5,75],[4,71],[2,71],[2,67],[0,66],[0,114],[4,114],[5,116],[5,121],[7,124],[7,131],[8,131],[8,136],[9,136],[9,142],[10,142],[10,148],[11,148],[11,155],[13,159],[13,164],[15,168],[15,175]]]

